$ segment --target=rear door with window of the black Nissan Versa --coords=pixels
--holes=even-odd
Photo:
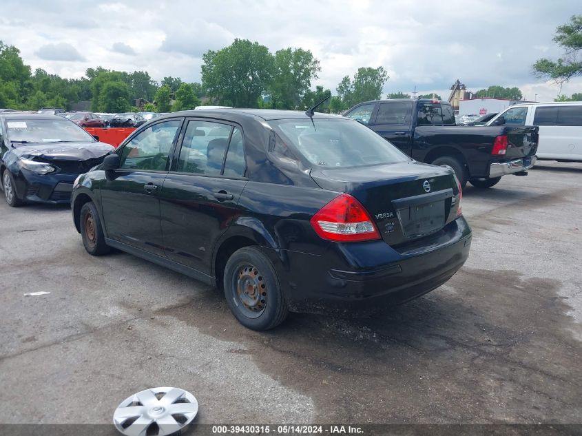
[[[238,213],[246,167],[240,126],[202,118],[187,121],[160,193],[169,259],[211,274],[214,246]]]

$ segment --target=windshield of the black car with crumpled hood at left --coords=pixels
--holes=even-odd
[[[23,143],[94,142],[94,138],[66,118],[10,118],[6,121],[8,139]]]

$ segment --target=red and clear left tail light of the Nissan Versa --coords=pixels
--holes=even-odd
[[[349,194],[342,194],[322,207],[311,218],[311,225],[320,238],[335,242],[380,239],[380,232],[371,216]]]

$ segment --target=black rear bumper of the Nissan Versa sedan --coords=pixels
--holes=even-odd
[[[439,287],[464,264],[470,241],[461,217],[427,237],[424,251],[399,252],[383,241],[333,244],[322,256],[287,251],[273,263],[292,311],[366,312]]]

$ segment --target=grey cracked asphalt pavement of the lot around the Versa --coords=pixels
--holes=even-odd
[[[468,185],[463,211],[470,258],[439,289],[257,333],[216,289],[89,256],[68,207],[0,199],[0,424],[109,424],[154,386],[198,423],[580,423],[582,163]]]

